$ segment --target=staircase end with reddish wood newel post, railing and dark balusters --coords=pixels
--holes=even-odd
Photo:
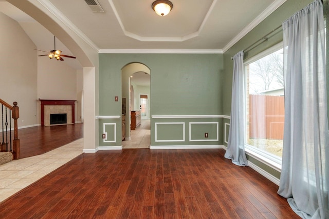
[[[14,102],[13,106],[10,106],[0,99],[0,105],[2,115],[0,127],[2,128],[0,129],[0,165],[2,165],[13,159],[18,160],[21,156],[17,127],[17,119],[20,117],[20,113],[17,102]]]

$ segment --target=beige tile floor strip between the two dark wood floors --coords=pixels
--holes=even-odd
[[[0,166],[0,202],[82,153],[83,138],[47,153]]]

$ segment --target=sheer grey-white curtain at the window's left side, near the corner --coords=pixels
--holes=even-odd
[[[225,158],[233,164],[248,166],[244,142],[244,70],[243,51],[233,56],[231,122]]]

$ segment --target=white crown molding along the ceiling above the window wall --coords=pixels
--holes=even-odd
[[[273,11],[277,10],[283,3],[287,0],[277,0],[268,6],[260,15],[258,15],[245,29],[243,29],[239,34],[237,34],[222,50],[226,52],[229,50],[235,43],[240,41],[247,33],[249,33],[254,27],[259,25],[264,19],[269,16]]]

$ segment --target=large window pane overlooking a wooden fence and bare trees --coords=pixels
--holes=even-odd
[[[284,128],[282,44],[245,62],[246,150],[281,165]]]

